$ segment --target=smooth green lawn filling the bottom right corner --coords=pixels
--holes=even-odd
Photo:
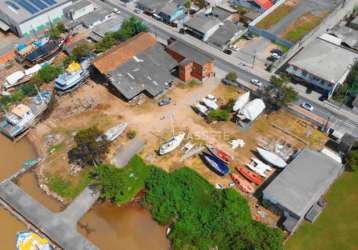
[[[313,224],[304,223],[287,250],[356,250],[358,246],[358,172],[345,172],[326,195],[327,208]]]

